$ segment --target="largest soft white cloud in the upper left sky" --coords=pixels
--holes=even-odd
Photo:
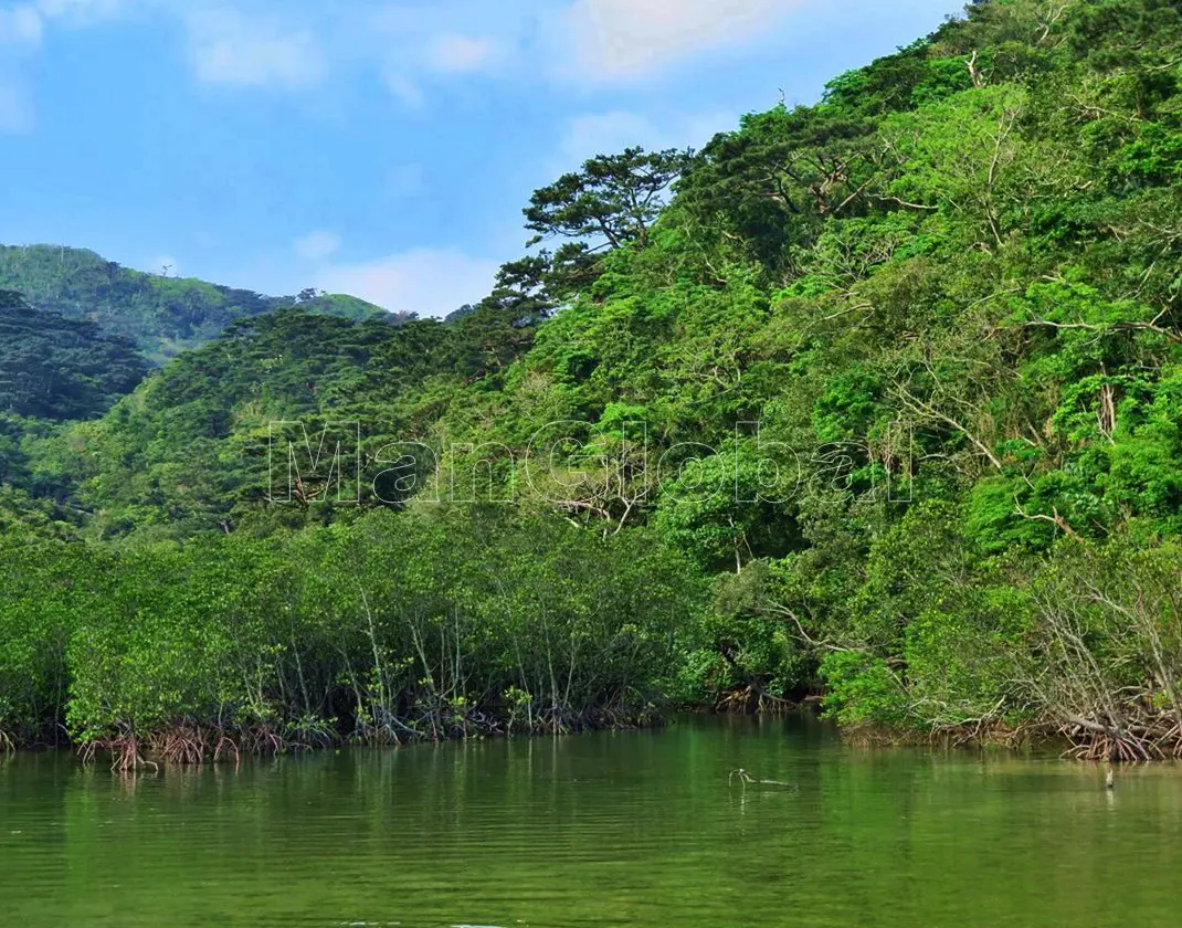
[[[203,11],[188,19],[197,79],[206,84],[299,87],[326,72],[323,52],[306,30],[246,19],[233,11]]]

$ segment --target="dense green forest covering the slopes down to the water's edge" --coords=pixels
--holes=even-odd
[[[0,738],[136,764],[821,696],[1182,754],[1180,84],[1173,0],[982,0],[538,190],[441,322],[190,319],[6,257],[111,324],[0,421]],[[103,411],[116,336],[216,337]]]

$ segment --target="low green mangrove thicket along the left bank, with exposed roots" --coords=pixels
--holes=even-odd
[[[52,736],[64,712],[82,744],[642,718],[695,596],[677,556],[642,534],[605,543],[480,511],[2,553],[0,727]]]

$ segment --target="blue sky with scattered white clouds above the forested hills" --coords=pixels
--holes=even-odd
[[[0,242],[444,316],[531,193],[936,28],[962,0],[0,0]]]

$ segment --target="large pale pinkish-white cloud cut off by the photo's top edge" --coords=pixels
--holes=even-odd
[[[678,59],[751,39],[806,0],[576,0],[561,28],[585,76],[643,77]]]

